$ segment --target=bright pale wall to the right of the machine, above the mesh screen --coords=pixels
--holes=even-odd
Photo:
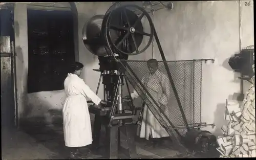
[[[225,99],[240,92],[239,75],[227,63],[239,52],[238,1],[174,2],[172,11],[154,13],[154,25],[167,60],[215,59],[214,64],[203,63],[202,122],[215,123],[214,129],[204,129],[221,134]],[[254,44],[253,6],[243,2],[241,36],[242,48]],[[154,58],[161,60],[156,46]],[[131,57],[139,58],[152,58],[151,50]]]

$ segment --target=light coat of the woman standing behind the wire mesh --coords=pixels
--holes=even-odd
[[[143,76],[141,82],[144,84],[148,93],[151,94],[151,96],[158,103],[158,105],[164,105],[167,111],[168,98],[170,95],[169,81],[167,76],[157,70],[153,75],[146,74],[145,76]],[[136,90],[134,90],[134,93],[131,94],[131,97],[139,97]],[[142,124],[140,127],[138,127],[137,134],[140,138],[145,138],[146,140],[148,140],[150,134],[151,138],[161,138],[169,136],[166,130],[157,121],[150,109],[147,108],[147,105],[144,106]]]

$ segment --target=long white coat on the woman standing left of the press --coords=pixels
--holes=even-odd
[[[63,106],[63,129],[67,147],[83,147],[92,144],[92,128],[86,97],[95,104],[100,98],[77,75],[68,74],[65,79],[67,99]]]

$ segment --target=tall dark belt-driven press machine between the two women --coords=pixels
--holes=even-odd
[[[157,36],[153,21],[150,15],[141,7],[136,5],[120,6],[119,3],[112,5],[105,15],[96,15],[86,22],[82,31],[83,43],[87,49],[99,59],[99,70],[101,73],[96,94],[102,79],[105,106],[92,104],[89,111],[95,114],[93,144],[99,145],[101,125],[106,129],[106,157],[118,158],[118,151],[126,154],[130,158],[136,158],[136,146],[134,138],[136,135],[137,124],[134,121],[136,107],[130,97],[129,110],[123,106],[123,85],[124,81],[129,95],[131,95],[127,79],[119,69],[122,65],[121,60],[127,60],[129,56],[138,55],[144,52],[152,43],[153,37],[157,42],[162,60],[166,61],[159,38]],[[135,13],[136,10],[136,13]],[[140,14],[138,14],[140,11]],[[144,31],[142,18],[145,17],[149,24],[149,33]],[[147,37],[148,41],[141,47],[142,39]],[[164,62],[166,73],[172,86],[176,100],[178,101],[182,117],[187,125],[184,111],[175,88],[172,75],[170,75],[167,63]],[[145,92],[146,89],[145,89]],[[170,122],[171,123],[171,122]],[[175,129],[178,133],[178,131]],[[125,149],[120,146],[120,132],[126,136],[128,147]],[[172,133],[169,133],[172,134]],[[173,143],[180,150],[185,150],[183,145],[173,136]]]

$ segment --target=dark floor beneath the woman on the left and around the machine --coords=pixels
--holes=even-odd
[[[67,159],[68,151],[63,140],[62,124],[45,125],[39,121],[33,122],[23,125],[22,131],[2,131],[2,159]],[[102,142],[103,139],[102,136]],[[156,149],[144,146],[143,139],[136,139],[138,158],[171,158],[179,153],[166,147]],[[104,147],[90,153],[88,158],[104,158],[102,155]]]

